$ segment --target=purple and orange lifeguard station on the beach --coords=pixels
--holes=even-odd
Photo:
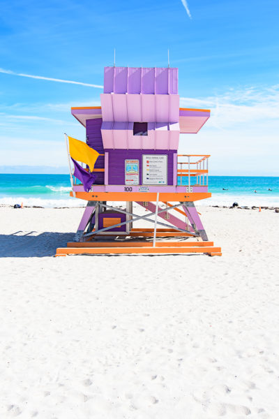
[[[220,247],[209,242],[195,208],[195,201],[211,196],[209,155],[178,154],[179,134],[197,133],[210,110],[179,108],[178,68],[105,67],[100,103],[72,108],[86,128],[86,145],[98,152],[98,159],[86,188],[70,165],[70,196],[87,205],[75,242],[57,249],[56,256],[220,256]],[[153,225],[142,228],[143,221]]]

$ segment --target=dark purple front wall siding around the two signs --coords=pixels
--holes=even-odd
[[[106,149],[109,154],[109,185],[125,184],[125,159],[138,159],[140,161],[140,185],[142,184],[142,155],[167,155],[167,184],[174,184],[174,154],[176,150],[138,150],[138,149]]]

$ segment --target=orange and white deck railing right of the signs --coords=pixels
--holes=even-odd
[[[182,185],[183,177],[188,177],[187,186],[189,187],[207,186],[209,184],[209,157],[210,154],[177,154],[177,184]]]

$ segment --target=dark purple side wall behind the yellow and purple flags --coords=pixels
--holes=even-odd
[[[100,127],[102,126],[103,119],[86,119],[86,143],[92,147],[96,152],[105,154],[103,147],[102,134]],[[105,168],[105,156],[99,156],[96,163],[96,169]],[[105,173],[98,172],[98,177],[94,184],[103,185],[105,182]]]

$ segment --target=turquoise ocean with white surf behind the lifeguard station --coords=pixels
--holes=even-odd
[[[187,183],[186,178],[183,181]],[[252,205],[279,207],[279,177],[209,176],[209,191],[212,193],[212,198],[199,201],[198,205],[232,205],[237,202],[241,206],[248,207]],[[21,203],[40,207],[85,205],[83,200],[71,198],[69,192],[69,175],[0,174],[0,205]]]

